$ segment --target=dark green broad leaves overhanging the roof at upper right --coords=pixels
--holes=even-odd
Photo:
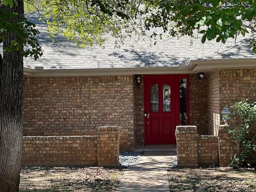
[[[216,39],[226,43],[236,35],[252,35],[256,30],[256,1],[225,0],[151,0],[155,12],[146,18],[146,28],[162,27],[172,36],[203,34],[202,43]],[[250,44],[256,51],[255,39]]]

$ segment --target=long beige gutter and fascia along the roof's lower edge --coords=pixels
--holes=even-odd
[[[195,74],[211,72],[217,69],[256,68],[256,58],[190,60],[188,65],[138,68],[92,68],[92,69],[45,69],[24,67],[24,76],[60,77],[60,76],[111,76],[133,74]]]

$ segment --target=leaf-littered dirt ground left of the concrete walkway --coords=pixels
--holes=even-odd
[[[122,173],[102,167],[22,167],[20,192],[114,192]]]

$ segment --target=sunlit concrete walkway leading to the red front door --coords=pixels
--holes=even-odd
[[[118,192],[169,192],[167,170],[176,151],[145,151],[124,172]]]

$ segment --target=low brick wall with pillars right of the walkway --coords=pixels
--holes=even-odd
[[[196,126],[177,126],[177,159],[178,167],[202,165],[228,166],[230,155],[236,153],[236,145],[228,134],[228,126],[220,125],[217,136],[198,136]]]

